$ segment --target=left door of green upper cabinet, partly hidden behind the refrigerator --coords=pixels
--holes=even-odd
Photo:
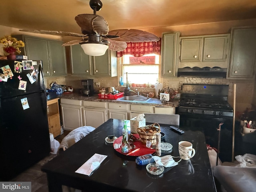
[[[47,40],[24,37],[28,60],[42,60],[44,76],[50,76],[50,59]]]

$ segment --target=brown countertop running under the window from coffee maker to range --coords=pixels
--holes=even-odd
[[[74,100],[84,100],[84,101],[98,101],[98,102],[114,102],[114,103],[129,103],[129,104],[142,104],[142,105],[154,105],[154,106],[163,106],[163,107],[178,107],[179,100],[173,100],[166,103],[162,103],[158,98],[151,98],[150,103],[137,103],[137,102],[126,102],[126,101],[118,101],[112,99],[99,99],[98,94],[94,94],[93,96],[82,96],[80,93],[70,93],[70,94],[62,94],[58,95],[60,100],[62,98],[65,99],[74,99]]]

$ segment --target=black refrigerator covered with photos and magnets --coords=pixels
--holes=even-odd
[[[50,153],[42,61],[0,60],[0,180]]]

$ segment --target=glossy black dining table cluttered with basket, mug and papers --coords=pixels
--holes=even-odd
[[[149,174],[146,165],[136,164],[136,156],[116,152],[112,144],[105,142],[108,135],[122,136],[122,120],[109,119],[42,166],[42,171],[47,174],[49,192],[62,192],[62,185],[86,192],[216,192],[203,132],[183,128],[185,133],[178,134],[170,130],[170,125],[158,123],[165,134],[162,142],[173,146],[172,156],[179,156],[178,142],[182,140],[193,144],[195,156],[190,160],[181,160],[174,167],[165,168],[161,175]],[[95,153],[106,155],[107,158],[90,176],[76,173]],[[162,153],[164,155],[167,154]],[[179,158],[174,160],[178,161]]]

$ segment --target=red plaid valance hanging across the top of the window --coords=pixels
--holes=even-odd
[[[116,55],[117,57],[122,57],[124,55],[141,57],[145,54],[161,55],[161,38],[157,42],[143,42],[143,43],[128,42],[127,48],[123,51],[118,51]]]

